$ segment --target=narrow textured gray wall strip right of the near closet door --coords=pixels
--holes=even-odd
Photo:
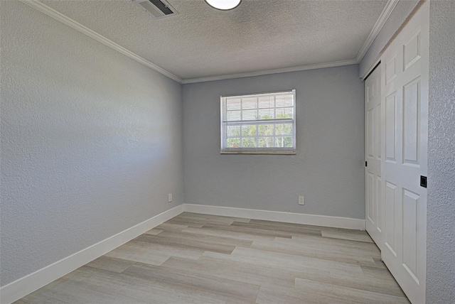
[[[431,1],[427,303],[455,303],[455,1]]]

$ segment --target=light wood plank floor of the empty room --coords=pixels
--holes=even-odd
[[[409,303],[366,232],[183,213],[16,303]]]

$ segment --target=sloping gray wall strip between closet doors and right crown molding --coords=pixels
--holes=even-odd
[[[393,9],[387,21],[378,36],[373,41],[373,44],[365,53],[359,65],[359,77],[363,77],[365,72],[375,63],[382,48],[385,47],[387,42],[392,38],[393,34],[397,31],[402,23],[410,15],[414,7],[419,3],[419,0],[400,0]]]

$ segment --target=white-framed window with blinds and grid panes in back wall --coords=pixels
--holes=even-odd
[[[296,153],[296,91],[221,97],[221,153]]]

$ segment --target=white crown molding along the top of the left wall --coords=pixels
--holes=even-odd
[[[164,76],[169,77],[172,80],[175,80],[176,82],[179,82],[179,83],[182,82],[180,77],[177,77],[176,75],[173,75],[171,72],[168,72],[168,71],[164,70],[163,68],[159,67],[158,65],[151,63],[149,60],[142,58],[141,56],[133,53],[131,50],[127,50],[126,48],[122,47],[122,45],[114,43],[114,41],[107,39],[105,36],[102,36],[95,31],[92,31],[90,28],[87,28],[86,26],[82,26],[82,24],[78,23],[77,21],[74,21],[73,19],[69,18],[68,16],[63,15],[63,13],[55,11],[55,9],[50,8],[49,6],[41,3],[38,0],[19,0],[19,1],[23,2],[24,4],[27,4],[28,6],[33,7],[33,9],[41,11],[41,13],[45,13],[46,15],[50,16],[51,18],[54,18],[55,20],[60,21],[61,23],[65,24],[67,26],[70,26],[71,28],[74,28],[76,31],[79,31],[80,33],[83,33],[83,34],[89,36],[90,38],[93,38],[93,39],[97,40],[98,42],[100,42],[104,45],[107,45],[109,48],[112,48],[112,50],[117,50],[117,52],[136,60],[138,63],[146,65],[147,67],[150,67],[152,70],[156,70],[156,72],[159,72],[159,73],[163,74]]]

